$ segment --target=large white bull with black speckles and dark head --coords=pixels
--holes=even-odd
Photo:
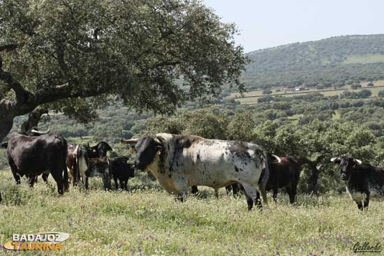
[[[178,195],[181,201],[191,186],[209,186],[217,190],[240,183],[249,210],[254,203],[261,207],[260,199],[256,198],[256,186],[267,203],[267,157],[256,144],[168,133],[121,142],[135,144],[135,167],[152,172],[161,186],[168,193]],[[263,170],[265,179],[259,184]]]

